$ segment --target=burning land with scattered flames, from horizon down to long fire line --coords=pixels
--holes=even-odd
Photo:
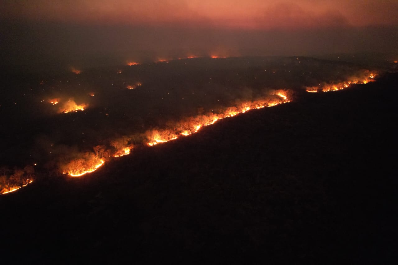
[[[81,177],[134,156],[137,147],[178,141],[222,119],[287,104],[307,92],[374,82],[382,72],[310,57],[192,56],[47,73],[24,86],[14,84],[2,104],[8,126],[1,191],[31,183],[33,165],[51,177]]]

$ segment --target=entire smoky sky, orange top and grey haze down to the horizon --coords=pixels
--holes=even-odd
[[[397,0],[0,0],[3,61],[396,52]]]

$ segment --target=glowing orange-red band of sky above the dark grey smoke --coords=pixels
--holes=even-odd
[[[270,29],[396,25],[396,0],[2,0],[2,17]]]

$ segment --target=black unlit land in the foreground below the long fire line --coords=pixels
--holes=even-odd
[[[2,261],[392,263],[397,82],[308,93],[3,195]]]

